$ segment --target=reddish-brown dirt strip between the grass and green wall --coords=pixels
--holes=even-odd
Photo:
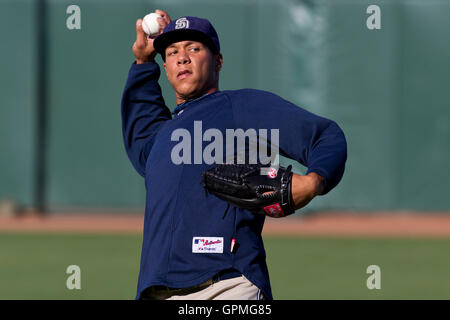
[[[45,217],[0,217],[0,231],[141,234],[143,216],[53,214]],[[450,237],[450,213],[320,213],[267,218],[263,235]]]

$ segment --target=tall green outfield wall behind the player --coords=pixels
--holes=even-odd
[[[70,5],[80,8],[81,29],[67,27]],[[370,5],[381,10],[380,29],[367,27]],[[39,170],[36,7],[0,0],[0,199],[26,207],[35,205]],[[120,100],[135,21],[156,8],[215,25],[221,89],[268,90],[341,126],[344,178],[309,210],[450,210],[450,2],[48,0],[46,8],[41,187],[50,211],[144,206],[144,181],[122,144]]]

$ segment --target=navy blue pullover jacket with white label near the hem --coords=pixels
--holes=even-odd
[[[265,217],[235,207],[226,211],[226,202],[206,195],[201,174],[213,165],[194,159],[194,152],[190,163],[174,163],[172,152],[181,138],[173,133],[184,129],[194,140],[198,121],[203,132],[214,128],[223,137],[227,129],[278,129],[279,153],[306,166],[308,173],[321,175],[325,194],[344,172],[347,149],[342,130],[277,95],[252,89],[217,91],[188,101],[172,118],[159,76],[157,63],[133,63],[122,98],[125,149],[145,178],[147,191],[136,298],[152,285],[190,287],[233,268],[273,299],[261,237]],[[191,142],[192,150],[196,143],[198,147],[198,142]],[[209,143],[202,141],[202,150]],[[221,253],[194,252],[196,237],[221,239]],[[239,244],[233,252],[232,239]]]

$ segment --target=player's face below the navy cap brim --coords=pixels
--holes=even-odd
[[[222,56],[198,41],[175,42],[166,49],[167,78],[177,103],[218,90]]]

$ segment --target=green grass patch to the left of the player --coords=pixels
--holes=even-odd
[[[0,299],[134,299],[141,237],[0,233]],[[81,290],[68,290],[69,265]]]

